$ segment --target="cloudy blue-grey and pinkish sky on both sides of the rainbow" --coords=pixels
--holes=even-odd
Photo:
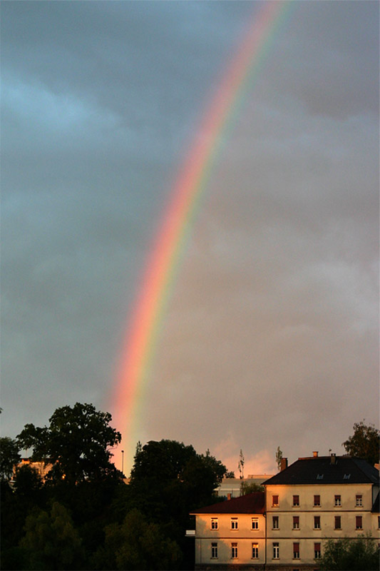
[[[3,435],[107,410],[175,174],[260,9],[2,3]],[[378,62],[377,1],[294,2],[192,226],[142,443],[272,473],[277,446],[339,454],[379,425]]]

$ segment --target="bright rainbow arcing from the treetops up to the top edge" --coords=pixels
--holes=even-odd
[[[169,206],[145,266],[128,323],[109,407],[113,426],[124,435],[127,462],[133,459],[137,441],[134,438],[135,424],[186,238],[217,156],[240,114],[247,86],[252,86],[291,3],[292,0],[267,0],[260,9],[255,6],[252,23],[206,108],[188,157],[173,185]],[[115,465],[120,468],[120,459],[115,460]]]

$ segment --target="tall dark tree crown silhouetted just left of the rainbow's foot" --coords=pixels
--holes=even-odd
[[[121,435],[109,425],[111,419],[86,403],[57,408],[48,427],[25,425],[17,436],[19,447],[32,448],[33,460],[51,463],[46,477],[55,482],[101,480],[116,473],[108,448],[120,443]]]

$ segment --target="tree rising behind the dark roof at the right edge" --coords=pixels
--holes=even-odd
[[[364,458],[372,466],[379,463],[380,430],[373,424],[365,425],[364,420],[355,423],[354,434],[342,445],[346,453],[356,458]]]

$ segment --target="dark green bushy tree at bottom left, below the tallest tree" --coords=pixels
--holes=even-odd
[[[20,547],[26,553],[27,569],[31,570],[78,569],[83,555],[73,521],[58,502],[53,502],[50,513],[36,509],[26,517]]]

